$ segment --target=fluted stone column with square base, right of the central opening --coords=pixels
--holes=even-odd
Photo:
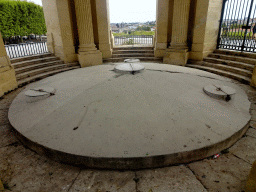
[[[186,65],[188,60],[188,21],[190,0],[174,0],[172,40],[164,55],[164,63]]]

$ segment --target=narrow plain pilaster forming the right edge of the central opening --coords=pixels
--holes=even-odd
[[[155,57],[163,57],[167,48],[169,0],[158,0],[156,8]]]

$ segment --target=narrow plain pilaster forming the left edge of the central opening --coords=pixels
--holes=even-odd
[[[99,50],[103,58],[112,57],[110,41],[109,0],[96,0]]]

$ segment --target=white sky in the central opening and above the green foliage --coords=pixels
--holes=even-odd
[[[41,0],[28,0],[42,5]],[[110,22],[146,22],[156,20],[156,0],[109,0]]]

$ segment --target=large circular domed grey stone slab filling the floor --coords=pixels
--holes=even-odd
[[[232,102],[207,85],[236,90]],[[27,103],[25,93],[55,95]],[[93,168],[140,169],[187,163],[219,153],[246,131],[250,102],[230,79],[185,67],[145,64],[116,75],[113,65],[61,73],[30,84],[11,104],[22,141],[54,160]]]

